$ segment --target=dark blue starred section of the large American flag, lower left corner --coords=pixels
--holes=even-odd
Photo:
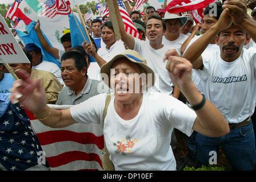
[[[25,111],[19,104],[9,103],[0,115],[0,163],[10,171],[35,169],[43,165],[38,164],[40,151]]]

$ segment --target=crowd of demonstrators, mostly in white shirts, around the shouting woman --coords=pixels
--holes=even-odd
[[[253,170],[256,7],[249,15],[245,0],[217,1],[196,24],[190,12],[148,5],[142,16],[124,3],[141,39],[126,32],[118,6],[120,40],[110,16],[88,24],[93,44],[73,47],[67,33],[57,49],[38,22],[34,30],[42,48],[61,67],[43,60],[35,44],[23,48],[30,63],[10,64],[20,80],[0,64],[0,119],[11,102],[52,128],[87,127],[104,136],[115,170],[176,170],[175,130],[189,137],[195,167],[208,165],[211,152],[218,156],[221,147],[233,170]],[[73,106],[55,110],[48,104]]]

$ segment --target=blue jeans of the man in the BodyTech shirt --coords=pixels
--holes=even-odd
[[[256,148],[253,124],[230,130],[223,137],[206,137],[197,133],[197,165],[209,164],[210,151],[219,153],[222,147],[226,159],[234,170],[253,170],[256,162]]]

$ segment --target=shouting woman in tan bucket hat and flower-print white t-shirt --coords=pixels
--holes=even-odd
[[[175,170],[170,146],[174,127],[187,135],[193,130],[210,137],[229,133],[225,118],[191,81],[190,62],[179,57],[175,50],[166,55],[171,80],[195,111],[167,94],[147,92],[154,85],[154,72],[136,51],[129,49],[101,67],[101,73],[108,76],[103,81],[114,90],[104,121],[104,139],[115,170]],[[20,102],[43,124],[50,127],[66,127],[77,122],[102,125],[106,93],[70,109],[54,110],[46,105],[39,81],[31,81],[22,71],[17,75],[23,81],[14,82],[11,102]]]

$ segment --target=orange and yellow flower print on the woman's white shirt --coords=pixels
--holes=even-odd
[[[134,147],[135,143],[138,142],[138,139],[131,140],[130,135],[126,135],[125,138],[122,138],[121,141],[117,140],[113,145],[117,147],[115,154],[126,155],[126,152],[131,153],[131,149]]]

